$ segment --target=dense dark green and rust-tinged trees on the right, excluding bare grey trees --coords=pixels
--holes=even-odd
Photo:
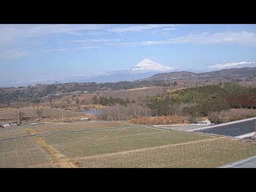
[[[177,114],[203,117],[212,111],[230,108],[256,108],[256,90],[236,83],[193,87],[149,97],[149,108],[155,115]]]

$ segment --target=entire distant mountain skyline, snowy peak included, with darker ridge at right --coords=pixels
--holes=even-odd
[[[174,71],[175,70],[175,71]],[[190,72],[193,71],[193,72]],[[218,71],[204,72],[202,70],[190,69],[190,71],[179,71],[170,66],[161,65],[150,59],[143,59],[135,67],[126,70],[107,71],[105,73],[94,74],[91,77],[86,76],[72,76],[63,79],[49,79],[44,81],[27,80],[23,82],[6,82],[0,86],[26,86],[35,85],[38,83],[54,84],[70,83],[70,82],[119,82],[119,81],[157,81],[167,78],[169,80],[176,79],[176,81],[185,82],[215,82],[215,81],[254,81],[256,75],[256,68],[233,68],[222,69]]]

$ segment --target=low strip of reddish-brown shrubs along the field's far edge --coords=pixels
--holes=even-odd
[[[143,125],[170,125],[178,123],[189,123],[186,116],[159,116],[159,117],[138,117],[130,120],[131,123]]]

